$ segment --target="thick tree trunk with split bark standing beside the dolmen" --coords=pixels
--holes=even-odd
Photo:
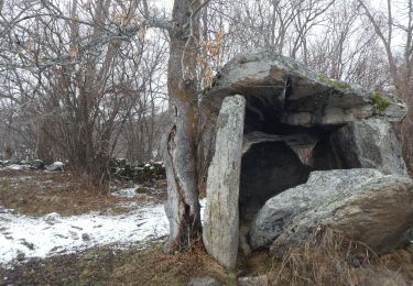
[[[192,7],[199,7],[193,1]],[[199,20],[185,0],[175,0],[171,30],[167,89],[170,124],[164,135],[169,199],[165,207],[170,220],[169,248],[183,250],[200,233],[199,201],[196,176],[196,44]]]

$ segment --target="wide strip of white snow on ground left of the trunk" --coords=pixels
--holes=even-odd
[[[130,191],[124,190],[130,195]],[[202,206],[205,206],[205,199]],[[0,207],[0,264],[17,258],[46,257],[116,243],[145,242],[169,233],[163,205],[139,206],[120,216],[90,212],[29,217]],[[203,211],[202,211],[203,212]]]

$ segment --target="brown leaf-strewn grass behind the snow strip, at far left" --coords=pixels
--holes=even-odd
[[[140,198],[118,198],[68,173],[0,173],[0,206],[29,216],[101,211]]]

